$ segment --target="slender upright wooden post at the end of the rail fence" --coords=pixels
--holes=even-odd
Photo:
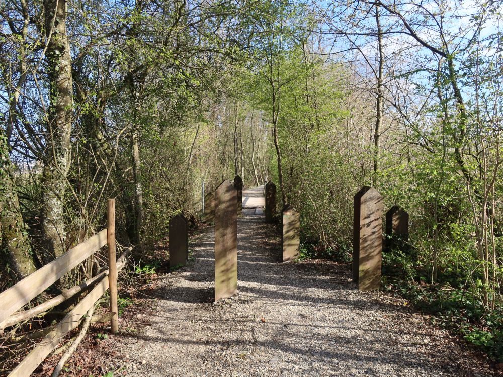
[[[117,264],[115,255],[115,199],[108,200],[107,206],[107,240],[108,240],[108,284],[110,288],[110,329],[112,333],[119,331],[117,308]]]

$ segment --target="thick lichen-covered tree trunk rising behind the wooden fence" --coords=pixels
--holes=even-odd
[[[42,248],[46,261],[65,252],[65,189],[70,167],[72,76],[70,45],[66,35],[66,1],[46,0],[46,60],[50,90],[46,151],[43,169]]]

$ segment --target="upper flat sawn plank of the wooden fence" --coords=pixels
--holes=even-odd
[[[49,264],[36,270],[11,288],[0,293],[0,323],[37,297],[96,250],[107,244],[107,229],[78,244]]]

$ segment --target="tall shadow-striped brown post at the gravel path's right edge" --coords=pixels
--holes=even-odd
[[[381,286],[382,196],[363,187],[354,198],[353,281],[360,291]]]

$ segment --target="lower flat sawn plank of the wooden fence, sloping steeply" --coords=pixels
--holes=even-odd
[[[106,229],[105,229],[106,230]],[[100,232],[101,233],[101,232]],[[80,319],[108,289],[108,279],[103,279],[73,308],[66,317],[32,349],[8,377],[28,377],[42,361],[57,347],[63,336],[80,324]]]

